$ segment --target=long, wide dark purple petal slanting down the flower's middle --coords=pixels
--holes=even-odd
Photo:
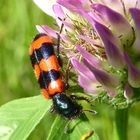
[[[100,23],[96,23],[95,28],[104,43],[109,63],[114,67],[122,68],[124,59],[117,38],[107,27]]]

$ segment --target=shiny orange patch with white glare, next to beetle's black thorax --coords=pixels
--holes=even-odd
[[[48,92],[50,95],[54,95],[57,93],[62,93],[64,91],[64,82],[62,81],[62,77],[55,81],[51,81],[48,85]]]

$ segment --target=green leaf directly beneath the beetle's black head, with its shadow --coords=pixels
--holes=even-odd
[[[67,123],[69,123],[68,126],[66,126]],[[66,134],[64,133],[65,127],[68,127],[68,133]],[[84,134],[90,131],[92,131],[93,134],[88,140],[99,140],[99,137],[93,129],[92,123],[90,123],[85,115],[81,115],[80,118],[73,120],[66,120],[60,115],[57,115],[48,131],[49,135],[46,140],[80,140]]]

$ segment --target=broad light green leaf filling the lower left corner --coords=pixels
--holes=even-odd
[[[50,109],[51,100],[35,96],[11,101],[0,108],[0,139],[25,140]]]

